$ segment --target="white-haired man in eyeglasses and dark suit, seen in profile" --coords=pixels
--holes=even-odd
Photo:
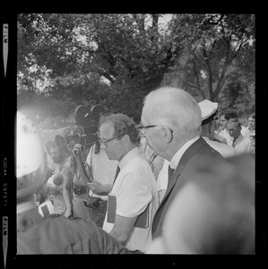
[[[153,152],[170,162],[170,170],[174,169],[152,221],[152,239],[165,229],[164,218],[169,204],[186,183],[193,161],[207,155],[223,159],[200,137],[201,124],[201,109],[186,91],[163,87],[151,91],[144,99],[140,132]]]

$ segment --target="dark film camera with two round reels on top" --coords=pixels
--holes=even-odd
[[[87,106],[75,108],[74,119],[78,127],[73,130],[73,135],[56,135],[55,142],[59,145],[81,143],[83,146],[98,143],[99,117],[104,111],[99,105],[92,108]]]

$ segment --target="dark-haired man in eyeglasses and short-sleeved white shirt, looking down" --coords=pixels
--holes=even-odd
[[[139,132],[130,117],[112,114],[100,118],[100,147],[109,160],[119,161],[103,230],[128,249],[144,251],[151,243],[151,221],[158,202],[155,178],[139,152],[139,142]],[[142,216],[143,224],[139,222]]]

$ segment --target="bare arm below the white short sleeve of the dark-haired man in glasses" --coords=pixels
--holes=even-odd
[[[138,216],[134,218],[126,218],[120,215],[116,215],[116,221],[113,229],[110,231],[110,235],[117,239],[118,242],[125,245],[132,230],[134,229],[134,223]]]

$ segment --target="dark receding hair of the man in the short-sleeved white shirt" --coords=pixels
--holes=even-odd
[[[99,126],[106,121],[113,123],[115,128],[115,136],[127,134],[132,143],[136,144],[140,142],[140,134],[136,128],[134,120],[131,117],[121,113],[110,114],[108,116],[100,117]]]

